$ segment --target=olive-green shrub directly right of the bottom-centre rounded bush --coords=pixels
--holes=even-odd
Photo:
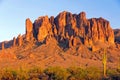
[[[86,80],[87,79],[87,71],[80,67],[71,67],[67,69],[70,73],[69,79],[75,80]]]

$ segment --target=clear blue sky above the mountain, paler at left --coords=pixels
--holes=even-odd
[[[0,0],[0,42],[25,33],[25,20],[57,16],[62,11],[87,18],[103,17],[113,29],[120,28],[120,0]]]

